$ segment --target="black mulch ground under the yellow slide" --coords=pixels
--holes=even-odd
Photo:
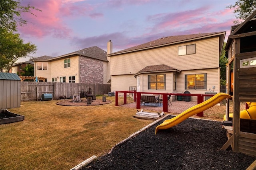
[[[166,119],[170,119],[168,116]],[[245,170],[256,159],[220,148],[228,140],[221,122],[186,119],[166,130],[156,123],[83,170]],[[125,125],[124,125],[125,128]]]

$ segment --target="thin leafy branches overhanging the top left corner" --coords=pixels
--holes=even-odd
[[[27,23],[26,20],[21,18],[22,12],[29,12],[30,14],[34,15],[31,12],[31,9],[39,10],[34,6],[21,6],[19,0],[1,0],[0,2],[0,28],[6,29],[8,31],[17,31],[17,24],[20,26]]]

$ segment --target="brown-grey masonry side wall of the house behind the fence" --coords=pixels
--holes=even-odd
[[[103,84],[103,62],[89,57],[80,57],[80,83]]]

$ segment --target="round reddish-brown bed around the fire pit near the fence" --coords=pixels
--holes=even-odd
[[[92,104],[87,104],[86,98],[82,98],[81,102],[72,102],[71,99],[69,100],[63,100],[61,102],[57,102],[56,104],[62,105],[62,106],[96,106],[96,105],[102,105],[102,104],[109,104],[111,103],[111,100],[106,100],[106,102],[102,102],[102,99],[96,99],[92,100]]]

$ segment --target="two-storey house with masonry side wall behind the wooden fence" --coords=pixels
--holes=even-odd
[[[89,47],[59,57],[42,56],[34,61],[35,76],[48,82],[108,84],[109,62],[106,51]]]

